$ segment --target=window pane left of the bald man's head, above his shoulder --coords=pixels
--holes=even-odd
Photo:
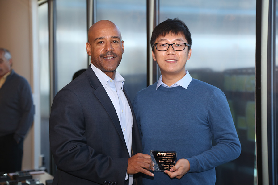
[[[57,0],[57,90],[68,84],[75,72],[88,67],[86,0]]]

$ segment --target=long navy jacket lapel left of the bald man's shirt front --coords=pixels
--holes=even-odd
[[[124,134],[112,101],[110,100],[107,92],[105,91],[104,87],[100,83],[98,77],[95,75],[95,72],[92,70],[91,66],[89,66],[89,68],[86,70],[86,74],[89,77],[91,86],[95,89],[93,93],[99,99],[100,103],[103,105],[106,112],[109,114],[127,150],[127,146],[124,140]]]

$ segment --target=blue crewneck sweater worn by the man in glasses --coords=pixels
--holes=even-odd
[[[156,85],[137,92],[133,101],[143,153],[176,151],[177,160],[189,161],[190,171],[181,179],[154,172],[154,177],[144,176],[143,184],[215,184],[215,167],[241,152],[225,94],[196,79],[187,89],[161,85],[156,90]]]

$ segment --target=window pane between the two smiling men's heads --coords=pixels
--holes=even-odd
[[[107,19],[121,30],[124,54],[117,71],[124,77],[131,101],[147,86],[146,1],[97,0],[97,21]]]

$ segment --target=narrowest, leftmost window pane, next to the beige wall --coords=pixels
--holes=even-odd
[[[39,19],[39,66],[40,66],[40,115],[41,115],[41,154],[44,166],[49,171],[49,115],[50,115],[50,71],[49,71],[49,29],[48,3],[38,8]]]

